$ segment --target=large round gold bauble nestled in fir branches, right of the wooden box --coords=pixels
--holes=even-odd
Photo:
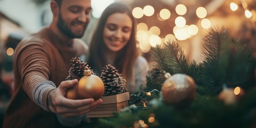
[[[186,107],[196,97],[196,84],[188,75],[174,74],[165,80],[161,91],[166,103]]]

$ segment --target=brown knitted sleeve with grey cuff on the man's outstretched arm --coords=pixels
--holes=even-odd
[[[18,66],[22,88],[37,105],[48,110],[47,95],[56,89],[55,84],[48,81],[51,54],[46,52],[42,43],[30,42],[19,46],[15,65]]]

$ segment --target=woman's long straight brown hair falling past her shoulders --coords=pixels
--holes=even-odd
[[[89,65],[93,70],[102,71],[103,67],[108,65],[106,62],[106,49],[108,49],[103,42],[103,30],[106,24],[108,17],[114,13],[125,13],[129,15],[132,20],[132,32],[131,37],[127,44],[123,47],[122,50],[118,51],[117,57],[114,60],[114,67],[118,70],[119,73],[123,74],[123,77],[126,79],[126,83],[132,79],[133,74],[133,66],[138,58],[139,52],[137,49],[137,42],[135,39],[135,31],[136,31],[136,22],[133,18],[131,10],[129,7],[122,3],[113,3],[110,4],[105,11],[101,14],[101,18],[99,19],[98,26],[94,31],[94,35],[92,36],[92,40],[90,43],[90,55],[89,55]]]

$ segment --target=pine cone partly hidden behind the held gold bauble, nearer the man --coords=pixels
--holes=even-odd
[[[78,79],[79,81],[79,79],[84,76],[84,70],[88,70],[91,68],[87,65],[86,62],[84,62],[83,60],[80,61],[80,58],[77,57],[72,58],[69,65],[71,65],[71,68],[68,71],[68,77],[66,78],[66,80]],[[92,74],[94,74],[93,71]]]

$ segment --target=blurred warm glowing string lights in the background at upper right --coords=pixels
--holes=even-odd
[[[243,8],[245,10],[245,17],[252,18],[252,12],[247,9],[247,4],[243,0],[241,1]],[[238,4],[231,2],[230,9],[232,11],[238,10]],[[140,19],[143,15],[150,17],[155,12],[155,9],[151,5],[146,5],[143,7],[134,7],[132,10],[132,14],[134,18]],[[165,21],[171,17],[171,13],[168,9],[162,9],[160,12],[157,13],[157,19],[160,21]],[[148,28],[147,23],[140,22],[137,25],[137,41],[139,42],[138,47],[144,53],[150,51],[151,46],[161,45],[166,41],[171,40],[178,40],[178,41],[185,41],[188,38],[195,36],[199,28],[209,29],[211,27],[211,20],[207,19],[207,10],[205,7],[199,6],[196,9],[196,15],[198,17],[198,25],[187,25],[187,20],[183,15],[187,13],[187,7],[183,4],[178,4],[175,7],[175,13],[178,14],[178,17],[175,18],[175,26],[173,27],[173,34],[167,34],[165,37],[160,37],[161,29],[157,26],[153,26]]]

